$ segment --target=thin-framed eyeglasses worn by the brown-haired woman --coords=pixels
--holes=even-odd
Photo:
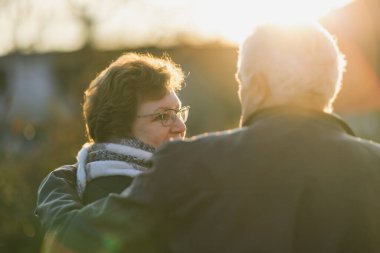
[[[189,109],[190,109],[190,106],[184,106],[179,109],[166,109],[163,112],[137,115],[137,118],[156,116],[158,120],[161,120],[161,124],[167,127],[174,124],[177,118],[180,119],[183,123],[185,123],[189,116]]]

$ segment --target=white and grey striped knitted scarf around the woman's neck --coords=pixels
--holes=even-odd
[[[151,166],[154,148],[135,139],[86,143],[78,152],[77,191],[82,198],[89,181],[105,176],[136,177]]]

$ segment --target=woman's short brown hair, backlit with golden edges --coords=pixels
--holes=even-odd
[[[87,137],[94,142],[131,136],[141,101],[182,88],[184,74],[168,56],[127,53],[104,69],[84,93]]]

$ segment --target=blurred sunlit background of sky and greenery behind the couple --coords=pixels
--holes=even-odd
[[[40,252],[37,188],[86,141],[89,82],[121,53],[184,69],[188,136],[238,126],[237,47],[265,21],[319,20],[348,66],[335,112],[380,141],[378,0],[0,0],[0,252]]]

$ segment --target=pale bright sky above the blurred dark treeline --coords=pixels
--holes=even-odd
[[[255,25],[317,20],[352,0],[0,0],[0,56],[239,43]]]

